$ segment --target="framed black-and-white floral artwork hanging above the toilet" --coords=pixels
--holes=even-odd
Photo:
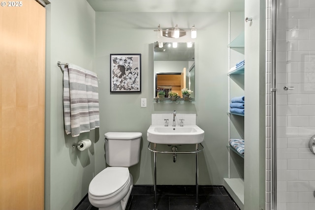
[[[110,54],[110,91],[141,92],[141,54]]]

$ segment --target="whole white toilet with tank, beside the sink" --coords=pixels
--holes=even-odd
[[[139,162],[139,132],[105,133],[105,168],[89,185],[90,203],[99,210],[125,210],[133,183],[127,167]]]

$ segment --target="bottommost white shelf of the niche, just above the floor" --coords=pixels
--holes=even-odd
[[[241,178],[224,178],[223,186],[231,195],[237,206],[244,210],[244,180]]]

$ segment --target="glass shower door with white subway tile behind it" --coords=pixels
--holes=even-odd
[[[276,209],[315,210],[315,3],[278,0]]]

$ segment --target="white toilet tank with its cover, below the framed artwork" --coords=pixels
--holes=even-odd
[[[105,157],[109,166],[129,167],[137,164],[140,157],[140,132],[107,132]]]

